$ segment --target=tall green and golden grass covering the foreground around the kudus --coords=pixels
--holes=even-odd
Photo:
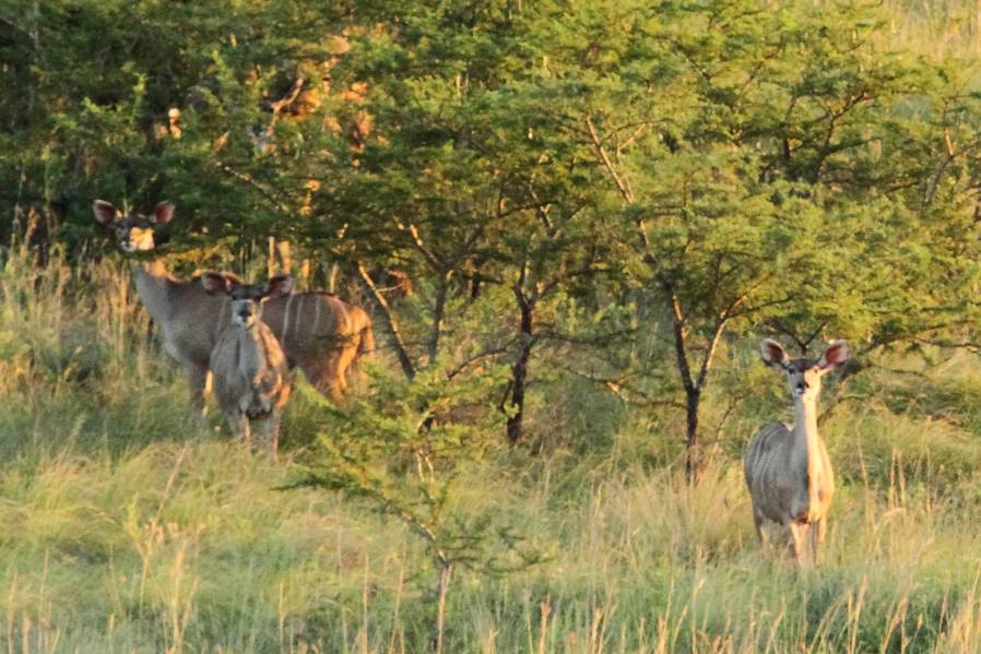
[[[56,254],[35,269],[29,255],[15,248],[0,276],[5,651],[428,646],[423,542],[367,501],[280,489],[309,454],[320,412],[309,389],[276,463],[214,417],[196,429],[126,267],[109,259],[83,274]],[[981,650],[977,357],[897,356],[848,393],[826,392],[865,399],[823,426],[840,490],[824,563],[800,572],[763,556],[753,533],[738,453],[790,412],[752,344],[744,354],[729,365],[767,381],[711,440],[695,488],[677,417],[590,387],[545,391],[551,408],[533,425],[568,433],[544,453],[503,448],[464,469],[454,502],[507,523],[542,560],[500,574],[459,567],[445,651]],[[583,441],[594,444],[569,444]]]

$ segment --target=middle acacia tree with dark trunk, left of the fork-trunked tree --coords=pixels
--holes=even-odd
[[[366,261],[421,281],[429,305],[426,333],[416,334],[422,347],[413,354],[411,336],[395,338],[406,374],[457,346],[445,343],[446,325],[482,287],[508,289],[515,319],[487,325],[477,349],[510,361],[500,406],[515,443],[523,438],[532,353],[566,335],[543,321],[545,306],[572,281],[606,270],[583,183],[589,169],[564,117],[528,79],[536,37],[521,11],[507,2],[446,3],[386,7],[382,15],[398,19],[385,31],[354,31],[338,68],[339,79],[367,87],[377,138],[354,155],[335,155],[343,168],[324,180],[321,224],[344,226],[350,257],[370,286]],[[392,325],[393,311],[375,295]]]

